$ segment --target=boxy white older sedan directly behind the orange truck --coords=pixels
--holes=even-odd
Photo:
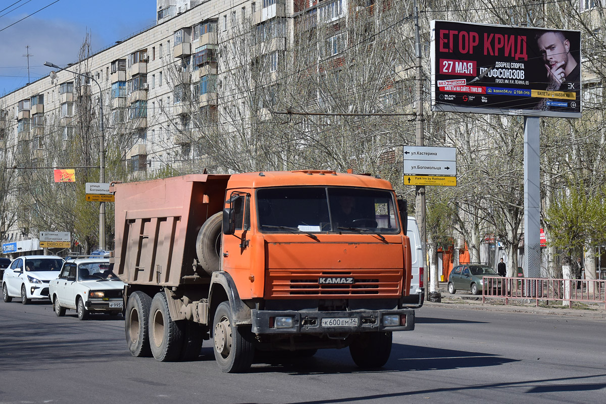
[[[59,277],[48,288],[59,317],[67,309],[76,310],[80,320],[87,319],[90,313],[122,312],[124,283],[112,272],[108,259],[78,258],[65,262]]]

